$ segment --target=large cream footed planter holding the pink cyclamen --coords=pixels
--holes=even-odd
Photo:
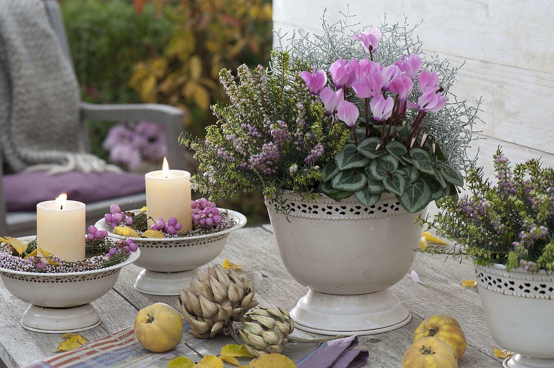
[[[297,328],[324,335],[370,335],[391,331],[411,319],[389,287],[412,266],[421,236],[418,215],[396,196],[383,193],[370,208],[354,197],[312,202],[290,192],[288,214],[266,199],[286,269],[309,291],[291,316]]]

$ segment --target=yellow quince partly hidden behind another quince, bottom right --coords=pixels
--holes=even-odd
[[[454,349],[458,360],[464,354],[466,347],[465,334],[454,318],[437,314],[425,319],[414,331],[414,343],[429,336],[439,338],[450,345]]]

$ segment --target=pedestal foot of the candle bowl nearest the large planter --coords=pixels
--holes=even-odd
[[[178,296],[188,288],[197,268],[182,272],[155,272],[143,269],[135,281],[135,289],[141,293],[160,296]]]

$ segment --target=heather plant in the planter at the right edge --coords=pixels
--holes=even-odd
[[[554,271],[554,169],[537,159],[514,168],[500,148],[494,156],[497,183],[471,169],[470,195],[437,201],[441,210],[422,225],[455,243],[453,248],[428,246],[422,251],[452,257],[469,256],[478,265],[507,269]]]

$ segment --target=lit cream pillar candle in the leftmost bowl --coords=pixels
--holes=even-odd
[[[85,204],[66,194],[37,204],[37,244],[69,262],[85,258]]]

